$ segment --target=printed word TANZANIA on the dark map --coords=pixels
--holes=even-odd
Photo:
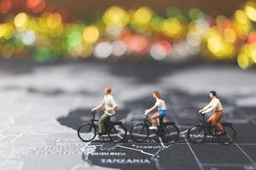
[[[101,159],[103,164],[150,164],[148,159]]]

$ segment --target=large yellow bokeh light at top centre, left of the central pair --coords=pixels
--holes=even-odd
[[[103,22],[107,26],[125,26],[129,22],[129,15],[123,8],[113,6],[103,14]]]

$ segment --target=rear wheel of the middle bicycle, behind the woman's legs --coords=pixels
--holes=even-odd
[[[179,129],[176,125],[167,124],[164,125],[163,135],[160,135],[161,139],[166,144],[173,144],[177,141],[179,136]]]

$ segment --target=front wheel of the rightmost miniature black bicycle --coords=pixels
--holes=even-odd
[[[204,139],[206,139],[206,130],[200,125],[195,125],[189,128],[187,135],[191,143],[201,143]]]

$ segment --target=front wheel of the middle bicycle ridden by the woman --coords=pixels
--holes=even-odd
[[[143,123],[140,123],[131,127],[130,134],[134,141],[143,142],[148,139],[149,130]]]

